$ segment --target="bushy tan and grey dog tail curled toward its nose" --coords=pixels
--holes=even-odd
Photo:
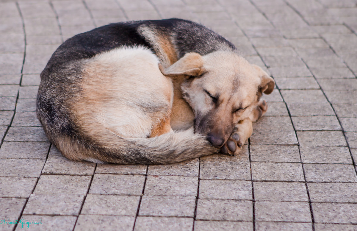
[[[82,143],[82,144],[81,144]],[[169,132],[152,138],[123,138],[106,134],[101,141],[57,146],[71,160],[114,164],[171,164],[218,151],[193,129]],[[80,155],[78,155],[80,154]]]

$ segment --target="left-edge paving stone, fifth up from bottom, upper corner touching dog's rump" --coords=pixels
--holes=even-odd
[[[42,142],[4,142],[0,158],[46,159],[49,147],[49,143]]]

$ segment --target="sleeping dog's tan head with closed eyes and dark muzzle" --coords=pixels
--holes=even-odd
[[[232,51],[205,56],[187,53],[166,69],[159,67],[166,76],[187,76],[181,89],[195,114],[195,132],[206,135],[216,147],[227,141],[238,121],[246,119],[262,94],[270,94],[275,85],[260,67]]]

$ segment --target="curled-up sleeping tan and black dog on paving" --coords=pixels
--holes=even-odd
[[[49,141],[70,160],[116,164],[236,155],[275,86],[231,42],[182,19],[75,35],[40,76],[36,114]]]

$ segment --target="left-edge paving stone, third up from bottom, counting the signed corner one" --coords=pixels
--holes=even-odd
[[[0,177],[0,197],[29,197],[36,178]]]

